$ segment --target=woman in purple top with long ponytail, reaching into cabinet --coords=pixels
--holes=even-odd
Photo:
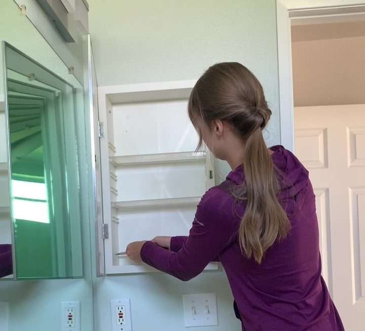
[[[220,261],[242,330],[344,330],[321,277],[308,171],[282,146],[266,148],[271,111],[257,78],[239,63],[215,64],[188,111],[199,146],[232,171],[204,194],[188,237],[130,243],[129,258],[181,280]]]

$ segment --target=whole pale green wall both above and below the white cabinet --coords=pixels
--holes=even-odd
[[[263,84],[273,117],[266,136],[279,143],[275,0],[88,0],[99,86],[197,79],[215,62],[238,61]],[[224,177],[229,168],[219,162]],[[217,292],[218,327],[240,330],[223,271],[189,282],[161,273],[96,282],[97,330],[111,331],[109,300],[131,299],[134,331],[182,331],[182,294]]]

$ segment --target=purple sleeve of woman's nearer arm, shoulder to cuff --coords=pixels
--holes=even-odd
[[[200,201],[189,236],[177,239],[178,243],[182,243],[179,250],[167,250],[147,241],[142,245],[141,259],[181,280],[189,280],[230,244],[233,238],[232,219],[232,200],[227,199],[227,194],[220,189],[213,188]],[[172,238],[170,248],[174,246]]]

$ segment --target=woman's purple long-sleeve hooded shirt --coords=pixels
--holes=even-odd
[[[321,277],[315,196],[308,171],[282,146],[271,150],[283,174],[278,199],[291,230],[266,251],[261,264],[241,253],[237,231],[245,204],[235,202],[227,189],[244,181],[242,166],[204,194],[188,237],[172,237],[170,250],[147,241],[142,260],[181,280],[197,276],[211,261],[220,261],[243,330],[342,331]]]

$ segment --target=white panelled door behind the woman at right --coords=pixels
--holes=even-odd
[[[365,105],[295,107],[316,195],[322,275],[346,331],[365,328]]]

